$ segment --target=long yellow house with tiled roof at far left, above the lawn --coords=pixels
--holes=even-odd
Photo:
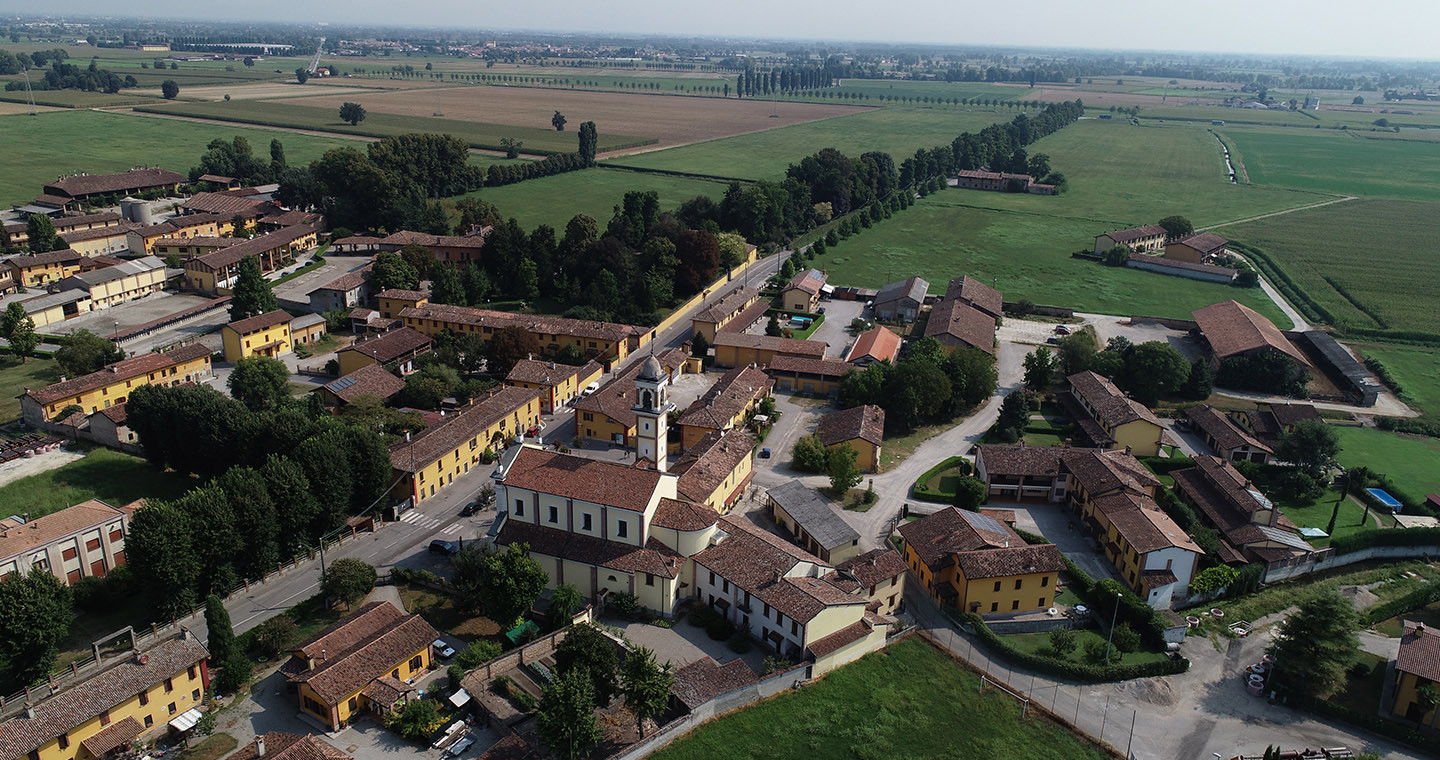
[[[26,389],[20,396],[20,410],[29,425],[39,426],[71,404],[91,415],[125,403],[131,389],[138,386],[179,386],[209,377],[210,350],[194,343],[164,353],[122,358],[98,371],[43,389]]]

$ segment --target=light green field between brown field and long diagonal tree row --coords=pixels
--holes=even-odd
[[[821,148],[838,148],[848,155],[878,150],[900,163],[917,148],[949,144],[960,132],[1009,121],[1015,114],[952,107],[887,107],[681,148],[647,151],[606,163],[773,180],[783,177],[786,167]]]

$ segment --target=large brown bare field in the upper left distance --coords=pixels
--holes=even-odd
[[[346,99],[346,96],[328,95],[294,102],[295,105],[321,107],[333,112]],[[583,121],[593,121],[600,131],[602,150],[615,150],[616,142],[634,142],[635,138],[612,137],[606,142],[606,135],[644,135],[657,140],[661,147],[684,145],[827,119],[857,111],[848,105],[723,101],[505,86],[387,92],[366,95],[357,102],[370,111],[372,118],[379,114],[429,117],[439,111],[449,119],[485,121],[518,125],[523,130],[549,131],[556,138],[566,141],[564,150],[575,150],[575,131]],[[556,111],[569,119],[564,132],[556,132],[550,127],[550,117]]]

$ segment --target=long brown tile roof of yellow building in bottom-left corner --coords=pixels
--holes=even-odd
[[[33,718],[20,712],[0,721],[0,757],[24,757],[102,711],[210,656],[199,641],[183,636],[166,639],[141,655],[145,659],[143,664],[135,656],[118,661],[112,658],[105,669],[35,704]]]

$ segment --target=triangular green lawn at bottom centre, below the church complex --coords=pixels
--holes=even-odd
[[[847,665],[697,728],[657,760],[809,757],[1100,759],[1100,750],[1040,718],[920,638]]]

